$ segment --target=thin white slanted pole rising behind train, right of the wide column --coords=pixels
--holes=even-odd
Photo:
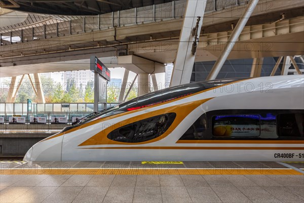
[[[236,25],[235,29],[232,31],[231,36],[228,40],[228,42],[225,45],[224,50],[216,60],[215,64],[213,65],[208,77],[206,80],[214,80],[216,76],[218,75],[222,65],[224,64],[225,60],[229,56],[230,51],[232,51],[234,45],[239,39],[239,36],[245,27],[248,19],[250,18],[252,12],[254,11],[257,3],[259,0],[251,0],[250,3],[247,5],[247,8],[244,12],[244,14],[241,16],[238,24]]]

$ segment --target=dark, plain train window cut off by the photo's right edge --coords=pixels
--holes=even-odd
[[[304,137],[304,114],[279,114],[277,122],[279,137]]]

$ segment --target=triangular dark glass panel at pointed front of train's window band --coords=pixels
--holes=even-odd
[[[182,135],[179,140],[206,140],[207,116],[200,116]]]

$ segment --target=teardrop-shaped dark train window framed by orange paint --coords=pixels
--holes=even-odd
[[[176,117],[175,113],[146,118],[111,131],[107,138],[123,143],[140,143],[164,134]]]

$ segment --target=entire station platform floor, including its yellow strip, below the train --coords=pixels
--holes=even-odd
[[[0,202],[304,202],[304,162],[0,161]]]

